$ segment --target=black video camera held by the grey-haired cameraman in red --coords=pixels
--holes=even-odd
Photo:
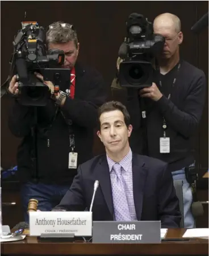
[[[70,83],[70,70],[61,68],[64,52],[57,49],[47,51],[44,27],[37,22],[22,22],[22,30],[18,31],[13,46],[11,76],[16,75],[18,79],[20,104],[43,106],[51,97],[48,86],[36,78],[35,72],[56,86]]]

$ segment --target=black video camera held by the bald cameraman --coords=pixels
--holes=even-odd
[[[119,48],[123,62],[119,66],[119,82],[122,87],[144,88],[152,86],[152,59],[165,43],[160,34],[153,34],[153,26],[143,15],[132,13],[128,17],[127,38]]]

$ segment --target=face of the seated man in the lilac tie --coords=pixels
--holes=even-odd
[[[124,115],[119,110],[102,113],[100,116],[101,131],[97,135],[105,145],[106,151],[118,153],[129,147],[128,137],[131,136],[132,126],[127,128]]]

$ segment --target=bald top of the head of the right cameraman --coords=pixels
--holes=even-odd
[[[174,30],[175,32],[181,31],[180,19],[172,13],[163,13],[158,15],[153,22],[154,31],[163,30]]]

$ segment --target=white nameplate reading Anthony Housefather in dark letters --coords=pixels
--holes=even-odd
[[[92,235],[92,212],[29,212],[30,235],[74,234]]]

